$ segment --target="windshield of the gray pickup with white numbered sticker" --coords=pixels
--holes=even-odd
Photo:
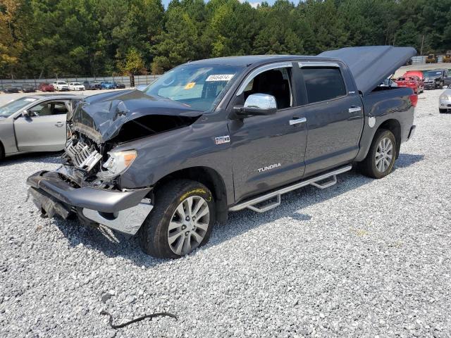
[[[210,111],[216,98],[241,70],[242,66],[232,65],[180,65],[150,84],[145,92],[198,111]]]

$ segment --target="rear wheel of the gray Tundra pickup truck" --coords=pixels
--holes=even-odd
[[[381,154],[380,147],[383,146],[381,142],[383,140],[389,140],[391,143],[391,150],[382,152],[383,159],[379,160],[376,163],[376,152]],[[385,141],[385,144],[389,142]],[[387,146],[390,149],[390,146]],[[397,144],[395,135],[390,130],[380,129],[376,131],[374,134],[373,142],[371,142],[371,146],[369,148],[368,154],[364,161],[359,163],[360,170],[362,174],[372,178],[382,178],[390,174],[393,169],[393,165],[395,164],[395,159],[397,156]],[[391,157],[389,158],[388,156]],[[386,161],[385,161],[386,160]],[[381,163],[381,161],[383,161]]]

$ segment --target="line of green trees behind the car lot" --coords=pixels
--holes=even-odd
[[[451,0],[0,0],[0,77],[161,74],[374,44],[451,49]]]

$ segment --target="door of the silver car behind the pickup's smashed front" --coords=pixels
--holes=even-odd
[[[28,109],[29,118],[14,121],[19,151],[59,151],[66,144],[68,101],[44,101]]]

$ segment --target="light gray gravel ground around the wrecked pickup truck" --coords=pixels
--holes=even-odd
[[[347,173],[264,214],[232,213],[174,261],[136,239],[39,217],[25,178],[58,154],[0,170],[0,337],[451,337],[451,115],[421,94],[416,135],[383,180]],[[103,299],[103,301],[102,301]],[[155,311],[120,330],[115,323]]]

